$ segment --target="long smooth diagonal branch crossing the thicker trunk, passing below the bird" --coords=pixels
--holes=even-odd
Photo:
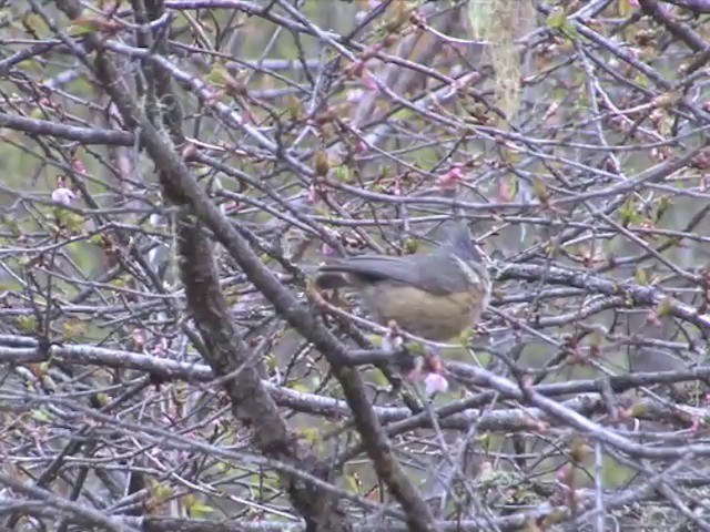
[[[74,0],[58,0],[60,9],[62,9],[72,20],[81,16],[81,7]],[[88,33],[84,35],[85,43],[92,50],[102,50],[102,41],[99,35]],[[141,140],[150,157],[156,167],[161,168],[161,185],[165,195],[179,205],[189,205],[196,217],[210,227],[215,234],[217,241],[230,252],[235,262],[243,269],[247,278],[254,286],[274,305],[276,310],[308,341],[313,342],[327,358],[333,367],[333,371],[337,377],[343,391],[351,407],[355,424],[364,440],[368,456],[374,462],[375,469],[379,478],[386,483],[395,499],[402,504],[407,515],[409,530],[415,532],[429,532],[436,530],[434,515],[432,510],[423,500],[418,489],[407,478],[404,469],[396,460],[392,452],[392,446],[387,440],[383,428],[373,411],[369,398],[366,395],[363,379],[357,368],[348,364],[345,347],[321,324],[307,307],[304,307],[295,296],[284,289],[278,279],[267,269],[258,259],[257,255],[252,250],[247,241],[230,224],[230,222],[220,213],[216,206],[210,201],[204,191],[197,185],[191,175],[184,162],[178,156],[173,149],[173,143],[165,132],[159,130],[146,116],[142,109],[135,105],[135,102],[121,88],[120,75],[109,61],[105,52],[99,51],[95,58],[94,66],[97,75],[104,85],[104,90],[114,100],[116,108],[120,110],[124,121],[132,127],[140,131]],[[193,246],[192,250],[197,249],[201,254],[209,253],[206,242],[202,241],[197,235],[199,223],[196,219],[182,217],[180,222],[181,244],[180,250],[184,253],[186,258],[196,259],[197,257],[191,253],[189,246]],[[206,318],[224,318],[229,323],[227,315],[223,314],[220,308],[221,303],[226,301],[219,290],[214,265],[212,263],[211,253],[207,255],[209,260],[202,262],[202,267],[209,269],[200,269],[199,267],[187,269],[183,265],[183,276],[199,275],[197,279],[185,277],[186,283],[197,282],[194,286],[193,296],[187,296],[191,306],[195,306],[196,316]],[[193,265],[193,266],[196,266]],[[200,290],[207,289],[207,294]],[[215,306],[216,305],[216,306]],[[204,314],[202,314],[204,313]],[[211,364],[213,364],[221,375],[233,371],[239,367],[235,362],[245,361],[243,357],[244,350],[237,340],[236,335],[231,327],[217,329],[214,324],[203,324],[205,331],[219,332],[216,338],[210,339],[212,351]],[[241,359],[241,360],[240,360]],[[246,368],[240,372],[240,376],[247,376],[254,390],[258,390],[258,380],[256,372]],[[236,377],[236,379],[240,378]],[[253,380],[252,380],[253,379]],[[240,386],[236,380],[232,381],[231,392],[237,393]],[[267,397],[266,392],[263,392]],[[240,403],[242,396],[234,397],[234,408],[243,407]],[[273,403],[271,403],[273,405]],[[266,408],[266,407],[264,407]],[[275,408],[275,407],[274,407]],[[271,407],[268,407],[271,410]],[[241,412],[242,416],[248,416],[248,412]],[[262,421],[263,422],[263,421]],[[297,460],[306,467],[305,461],[301,460],[301,452],[296,450],[295,443],[284,442],[280,440],[276,449],[272,447],[275,440],[268,434],[263,434],[263,439],[256,439],[257,442],[264,444],[264,452],[273,453],[274,451],[286,453],[291,460]],[[310,469],[313,469],[311,466]],[[314,529],[322,531],[342,530],[336,526],[336,520],[333,519],[331,512],[332,502],[321,500],[317,490],[310,490],[302,484],[294,483],[291,490],[292,501],[294,505],[303,511],[318,512],[305,515],[312,519]],[[315,491],[315,492],[314,492]],[[325,520],[323,522],[321,520]],[[328,525],[327,522],[331,524]],[[322,525],[322,526],[321,526]],[[335,528],[333,528],[335,526]]]

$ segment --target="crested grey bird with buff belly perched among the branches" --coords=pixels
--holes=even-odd
[[[354,289],[373,319],[435,342],[477,325],[490,300],[491,280],[484,254],[468,227],[454,224],[427,253],[406,256],[356,255],[322,265],[318,289]],[[440,361],[427,358],[430,371]]]

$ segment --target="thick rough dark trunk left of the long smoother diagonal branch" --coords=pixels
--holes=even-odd
[[[77,2],[58,3],[72,18],[81,14],[81,8]],[[151,7],[154,11],[160,10],[156,4]],[[99,39],[95,35],[88,35],[87,43],[97,49]],[[176,205],[184,205],[184,196],[175,194],[172,182],[175,181],[173,175],[175,170],[186,173],[186,168],[182,165],[163,165],[155,156],[160,154],[165,158],[166,153],[173,155],[170,147],[171,140],[166,134],[159,133],[153,122],[136,109],[132,98],[122,90],[121,79],[105,54],[98,54],[95,68],[99,79],[116,103],[116,108],[126,123],[136,125],[139,122],[142,132],[148,133],[143,135],[144,139],[150,136],[152,150],[149,150],[149,153],[154,156],[156,166],[161,168],[160,180],[165,196]],[[174,95],[170,93],[169,79],[161,79],[149,69],[144,71],[144,75],[146,82],[151,84],[145,88],[149,93],[146,99],[149,106],[154,103],[154,100],[151,101],[151,96],[158,96],[163,102],[175,101]],[[155,106],[151,108],[153,119],[160,121],[163,117],[155,113]],[[173,106],[171,110],[173,112],[164,120],[174,136],[180,136],[181,123],[176,110],[178,108]],[[136,120],[138,116],[140,117]],[[231,399],[234,417],[252,429],[252,442],[265,456],[293,463],[300,470],[307,471],[317,478],[327,479],[327,466],[320,462],[316,457],[301,446],[281,417],[268,391],[262,386],[254,361],[251,360],[248,348],[237,335],[230,319],[227,301],[220,288],[211,245],[201,231],[200,221],[192,216],[187,209],[183,209],[178,216],[176,229],[179,235],[178,253],[182,258],[181,275],[185,286],[187,308],[204,339],[206,350],[203,356],[213,372],[217,376],[232,376],[225,379],[223,386]],[[337,501],[331,493],[304,483],[288,473],[282,472],[282,481],[294,508],[303,515],[311,530],[336,532],[348,530],[337,510]]]

